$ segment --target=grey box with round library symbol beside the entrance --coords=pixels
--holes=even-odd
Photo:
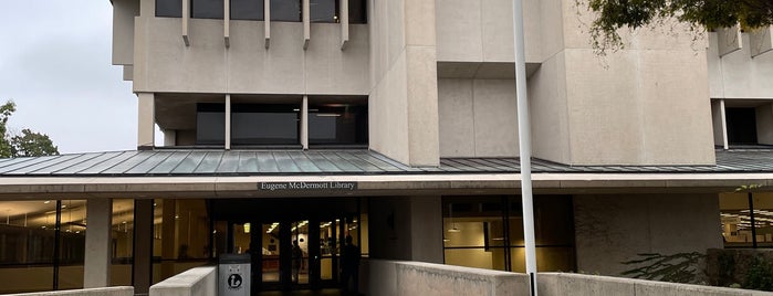
[[[250,296],[250,254],[220,254],[218,295]]]

